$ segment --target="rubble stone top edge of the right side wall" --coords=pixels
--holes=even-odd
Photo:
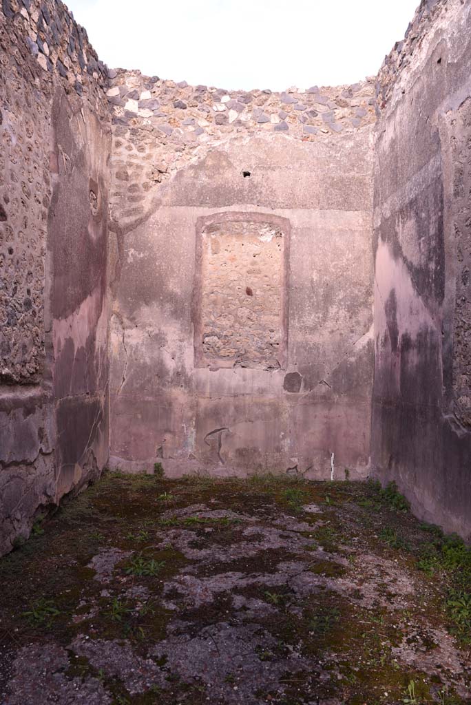
[[[463,4],[463,0],[459,0]],[[448,0],[421,0],[402,42],[396,42],[385,57],[377,76],[377,105],[379,111],[386,107],[401,74],[410,67],[417,51],[429,35],[437,18],[448,10]]]

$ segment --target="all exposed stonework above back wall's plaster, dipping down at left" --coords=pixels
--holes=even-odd
[[[159,184],[229,140],[265,137],[319,142],[376,121],[374,78],[335,88],[221,90],[109,71],[113,111],[111,220],[130,228],[149,212]]]

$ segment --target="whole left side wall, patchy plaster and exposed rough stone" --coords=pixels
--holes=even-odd
[[[0,11],[0,554],[108,457],[106,69],[61,2]]]

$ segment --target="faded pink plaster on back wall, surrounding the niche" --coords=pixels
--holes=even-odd
[[[368,472],[371,124],[310,141],[270,127],[234,128],[200,149],[142,202],[135,224],[112,209],[111,467],[328,478],[334,453],[336,477]],[[286,355],[228,366],[202,350],[199,292],[215,292],[204,280],[202,233],[240,227],[250,244],[257,223],[283,233],[286,264],[260,274],[283,292]],[[238,276],[234,296],[251,288],[257,317],[270,317],[244,278],[252,273]]]

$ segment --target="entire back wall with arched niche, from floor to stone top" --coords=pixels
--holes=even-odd
[[[372,85],[109,97],[111,467],[365,477]]]

